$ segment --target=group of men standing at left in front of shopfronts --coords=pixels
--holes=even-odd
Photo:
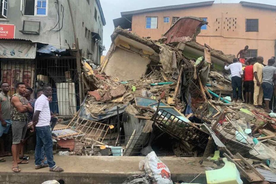
[[[63,172],[53,160],[52,131],[58,118],[50,111],[52,88],[44,85],[36,92],[37,99],[32,99],[33,89],[24,83],[17,83],[16,92],[9,96],[10,85],[0,84],[0,157],[10,156],[4,150],[4,137],[12,129],[12,171],[20,172],[19,164],[28,164],[29,156],[24,156],[24,145],[35,133],[35,169],[49,167],[52,172]],[[5,162],[0,158],[0,162]]]

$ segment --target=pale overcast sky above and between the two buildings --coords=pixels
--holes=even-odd
[[[170,6],[177,4],[186,4],[186,3],[197,3],[205,0],[100,0],[101,7],[104,11],[104,18],[106,20],[106,25],[103,30],[103,44],[106,50],[103,52],[103,55],[106,55],[110,44],[111,39],[110,35],[114,31],[113,19],[120,18],[120,12],[127,12],[138,9],[153,8],[153,7],[162,7]],[[207,0],[208,1],[208,0]],[[254,3],[265,3],[276,5],[275,0],[243,0]],[[215,3],[239,3],[240,0],[215,0]]]

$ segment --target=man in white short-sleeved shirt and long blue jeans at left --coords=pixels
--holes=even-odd
[[[34,105],[33,126],[35,126],[37,135],[37,144],[35,147],[35,169],[44,167],[50,168],[52,172],[63,172],[64,169],[55,165],[53,157],[53,141],[50,127],[50,107],[48,96],[52,96],[52,88],[44,85],[42,95],[36,100]],[[42,146],[45,148],[45,155],[48,164],[43,164],[41,159]]]

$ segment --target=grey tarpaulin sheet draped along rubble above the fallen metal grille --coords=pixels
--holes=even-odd
[[[87,113],[86,107],[83,105],[85,103],[86,98],[87,96],[85,96],[83,103],[81,104],[79,116],[91,121],[104,120],[106,118],[110,118],[112,116],[117,115],[117,106],[119,107],[119,114],[122,114],[123,112],[125,112],[125,109],[128,106],[128,104],[119,104],[119,105],[110,107],[109,109],[106,109],[104,111],[105,112],[104,114],[94,115],[93,117],[95,118],[93,118],[90,113]]]

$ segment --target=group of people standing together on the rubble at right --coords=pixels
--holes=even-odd
[[[231,83],[233,89],[232,101],[245,102],[252,104],[255,108],[263,108],[265,102],[265,111],[272,112],[270,101],[276,97],[276,63],[275,57],[271,57],[264,64],[264,57],[249,57],[245,59],[248,46],[240,50],[233,63],[227,66],[225,62],[224,69],[231,71]],[[238,58],[238,56],[240,56]],[[245,101],[242,99],[243,88],[245,92]]]

